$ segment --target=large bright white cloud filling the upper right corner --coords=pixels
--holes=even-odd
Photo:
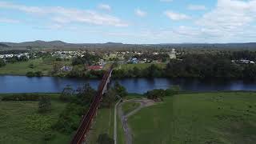
[[[235,35],[255,22],[256,0],[218,0],[214,10],[204,14],[196,24],[206,31],[214,30],[220,35]]]

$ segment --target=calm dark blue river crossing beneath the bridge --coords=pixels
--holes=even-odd
[[[82,78],[27,78],[26,76],[0,76],[0,93],[56,93],[61,92],[66,85],[77,88],[89,82],[94,89],[99,80]],[[256,90],[256,82],[242,81],[200,81],[193,79],[168,79],[168,78],[127,78],[118,80],[130,93],[145,93],[147,90],[166,89],[179,85],[182,90],[214,91],[214,90]]]

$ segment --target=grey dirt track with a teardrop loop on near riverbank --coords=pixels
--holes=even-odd
[[[140,106],[136,108],[135,110],[131,111],[129,114],[124,115],[122,111],[122,105],[126,102],[138,102],[140,103]],[[122,122],[122,128],[125,132],[125,138],[126,138],[126,144],[132,144],[133,138],[132,138],[132,131],[130,130],[130,127],[128,126],[127,119],[131,116],[136,114],[139,110],[141,110],[143,107],[146,106],[152,106],[154,105],[154,101],[143,98],[143,99],[131,99],[124,101],[122,103],[118,104],[118,117],[121,119]]]

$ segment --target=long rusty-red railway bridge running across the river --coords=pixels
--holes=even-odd
[[[97,114],[98,106],[102,101],[102,96],[106,92],[107,86],[110,83],[111,74],[113,71],[114,65],[110,66],[110,69],[104,74],[102,81],[98,85],[97,94],[94,97],[94,100],[90,104],[89,110],[86,112],[86,115],[82,117],[80,126],[78,127],[77,132],[74,134],[74,137],[70,144],[82,144],[86,140],[86,134],[90,130],[91,122],[94,119],[94,116]]]

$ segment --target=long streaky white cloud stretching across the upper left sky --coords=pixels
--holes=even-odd
[[[102,25],[102,26],[128,26],[127,22],[123,22],[120,18],[110,14],[101,14],[94,10],[78,10],[57,7],[38,7],[23,6],[10,2],[0,2],[0,8],[19,10],[28,14],[37,14],[50,18],[51,21],[59,23],[80,22],[86,24]]]

